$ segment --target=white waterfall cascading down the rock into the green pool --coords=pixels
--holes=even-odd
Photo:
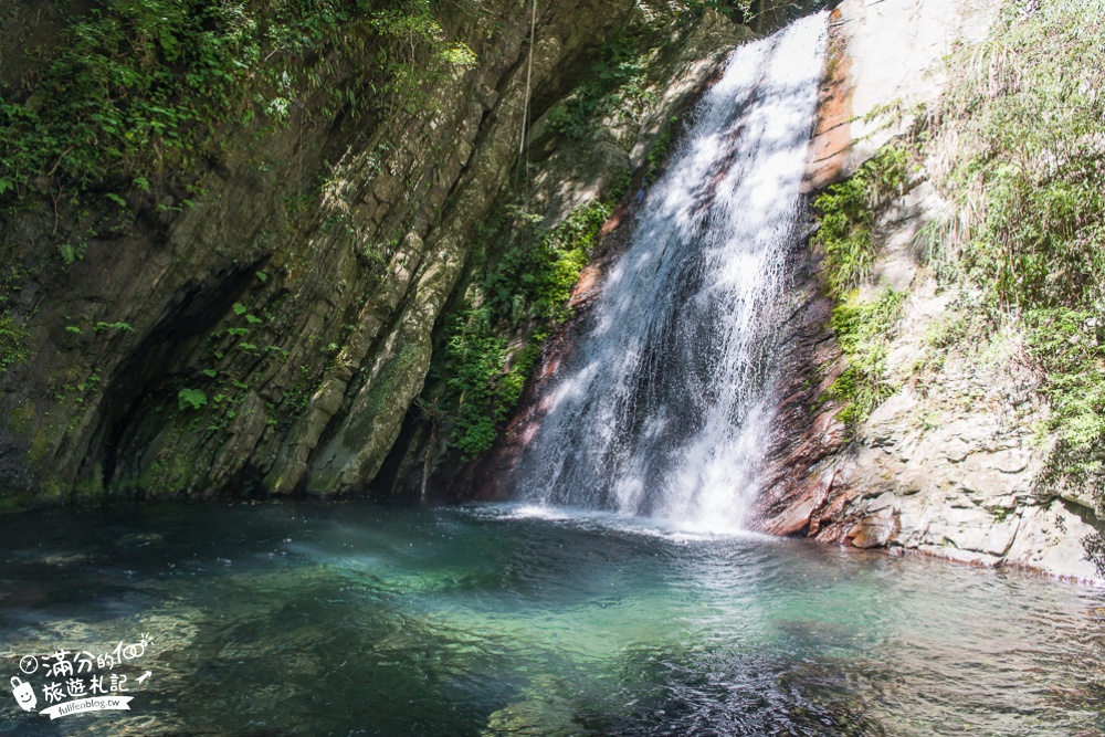
[[[740,526],[824,45],[821,13],[733,52],[543,398],[519,498]]]

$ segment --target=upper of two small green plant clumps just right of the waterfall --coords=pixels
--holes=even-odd
[[[880,209],[899,196],[909,175],[911,154],[885,146],[848,180],[813,201],[821,228],[813,243],[824,255],[824,284],[841,296],[862,284],[875,263],[872,228]]]

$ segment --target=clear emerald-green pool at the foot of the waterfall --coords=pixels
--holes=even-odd
[[[1099,591],[651,524],[367,503],[2,517],[0,734],[1105,733]],[[11,697],[23,655],[144,632],[129,713]]]

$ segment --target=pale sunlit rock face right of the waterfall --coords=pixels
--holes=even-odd
[[[983,39],[997,2],[845,0],[832,15],[811,188],[852,175],[881,146],[907,135],[943,88],[944,55]],[[830,301],[807,271],[792,324],[783,440],[772,454],[758,526],[856,547],[919,550],[1010,564],[1080,579],[1097,576],[1083,543],[1099,529],[1090,489],[1042,483],[1051,442],[1036,428],[1048,408],[1023,336],[1007,329],[982,352],[940,345],[956,319],[951,291],[924,264],[923,229],[946,204],[930,160],[874,228],[878,259],[860,298],[904,293],[885,346],[893,393],[854,429],[841,407],[819,404],[843,359],[828,326]]]

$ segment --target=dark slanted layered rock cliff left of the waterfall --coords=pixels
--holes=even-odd
[[[11,10],[0,84],[17,97],[41,69],[21,50],[61,43],[59,8]],[[327,76],[286,125],[262,140],[219,135],[198,194],[168,186],[91,234],[98,200],[31,192],[6,209],[0,308],[18,340],[0,385],[2,505],[411,491],[448,438],[415,399],[495,256],[480,229],[519,187],[524,117],[536,124],[522,181],[551,228],[640,172],[672,112],[748,32],[693,10],[545,3],[532,28],[517,3],[478,3],[442,20],[475,62],[427,75],[418,104],[330,109],[325,91],[375,72],[329,49]],[[636,106],[566,143],[546,113],[629,27],[666,36]]]

